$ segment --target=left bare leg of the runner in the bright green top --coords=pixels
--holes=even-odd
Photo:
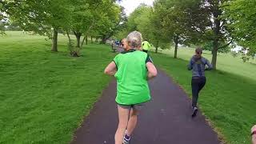
[[[128,118],[129,118],[129,109],[125,109],[122,106],[118,106],[118,130],[114,135],[115,144],[122,144],[122,139],[126,131]]]

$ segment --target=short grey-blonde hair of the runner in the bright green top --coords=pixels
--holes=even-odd
[[[126,39],[131,48],[139,49],[142,46],[142,34],[138,31],[131,32]]]

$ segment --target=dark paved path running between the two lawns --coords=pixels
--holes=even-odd
[[[217,134],[198,113],[191,118],[190,99],[161,70],[150,81],[152,101],[138,117],[131,144],[218,144]],[[75,134],[75,144],[114,144],[118,115],[114,98],[116,82],[103,91],[90,115]]]

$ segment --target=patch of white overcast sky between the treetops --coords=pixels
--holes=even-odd
[[[129,15],[139,4],[145,3],[146,5],[153,6],[153,2],[154,0],[122,0],[121,5],[125,7],[126,14]]]

